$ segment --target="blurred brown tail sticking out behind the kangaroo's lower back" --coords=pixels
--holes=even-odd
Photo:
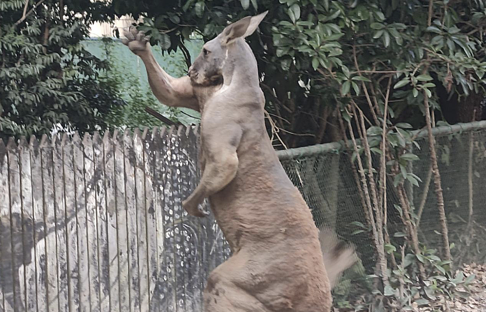
[[[356,248],[339,240],[336,233],[328,228],[319,230],[319,242],[332,289],[339,282],[342,272],[357,261]]]

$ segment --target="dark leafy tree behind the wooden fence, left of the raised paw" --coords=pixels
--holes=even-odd
[[[115,86],[98,79],[106,63],[80,45],[95,21],[109,19],[104,2],[0,3],[2,138],[113,126],[107,116],[123,101]]]

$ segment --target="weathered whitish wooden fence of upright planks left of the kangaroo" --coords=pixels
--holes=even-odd
[[[197,141],[183,127],[0,140],[0,311],[199,310],[229,249],[181,208]]]

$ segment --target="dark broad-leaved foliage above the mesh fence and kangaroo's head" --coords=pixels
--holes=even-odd
[[[390,75],[392,86],[405,79],[391,92],[393,122],[408,122],[414,128],[424,125],[422,90],[430,93],[430,104],[437,112],[441,107],[457,109],[451,107],[450,98],[462,107],[471,94],[478,94],[479,100],[484,97],[484,1],[434,1],[431,27],[428,4],[418,0],[114,0],[113,9],[117,15],[144,16],[139,28],[152,35],[152,45],[158,43],[167,51],[184,49],[184,40],[193,32],[209,40],[228,21],[269,10],[260,33],[248,41],[262,73],[267,111],[282,130],[278,135],[294,147],[339,138],[332,130],[337,124],[333,111],[350,98],[371,119],[363,83],[370,93],[375,91],[371,99],[383,105],[380,92]],[[433,81],[419,79],[424,70]],[[465,113],[468,119],[461,121],[471,120],[472,108]]]

